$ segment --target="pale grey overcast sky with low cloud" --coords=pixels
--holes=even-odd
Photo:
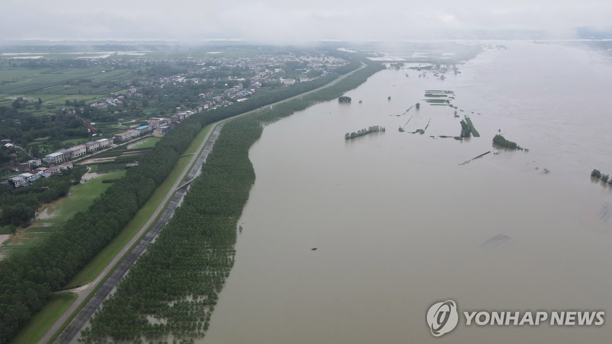
[[[7,1],[2,40],[431,39],[446,32],[612,24],[612,0]]]

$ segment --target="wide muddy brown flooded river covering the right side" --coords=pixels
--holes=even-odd
[[[612,190],[589,178],[612,173],[612,66],[584,50],[503,44],[446,80],[384,70],[346,94],[352,103],[266,127],[250,150],[256,182],[236,264],[201,342],[609,340],[607,318],[465,326],[461,315],[440,338],[426,323],[449,299],[460,312],[612,316]],[[455,92],[461,117],[426,103],[425,90]],[[430,137],[458,136],[465,114],[481,137]],[[428,122],[424,135],[410,133]],[[386,132],[344,139],[370,125]],[[498,130],[529,151],[494,150]],[[499,154],[471,160],[487,151]]]

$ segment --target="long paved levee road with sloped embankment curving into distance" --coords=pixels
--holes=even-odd
[[[347,73],[346,75],[343,75],[342,77],[337,78],[336,80],[328,84],[325,84],[319,88],[313,89],[312,91],[304,92],[299,95],[294,95],[293,97],[290,97],[288,99],[280,100],[276,103],[272,103],[269,106],[274,106],[280,103],[288,102],[289,100],[303,97],[304,95],[307,95],[307,94],[319,91],[320,89],[324,89],[329,86],[332,86],[338,83],[338,81],[343,80],[344,78],[348,77],[354,72],[357,72],[357,70],[363,69],[364,67],[366,67],[366,64],[362,62],[362,65],[358,69],[353,70],[353,72]],[[228,118],[223,121],[217,122],[213,130],[207,133],[206,137],[204,138],[204,140],[198,147],[198,150],[196,151],[195,154],[193,154],[192,159],[185,167],[185,170],[183,170],[183,172],[181,173],[181,176],[179,176],[179,178],[176,179],[176,182],[174,182],[172,188],[170,189],[170,192],[168,192],[168,194],[165,196],[162,203],[160,203],[159,207],[155,209],[155,212],[151,216],[151,218],[143,225],[143,227],[138,231],[138,233],[136,233],[136,235],[132,238],[132,240],[130,240],[130,242],[128,242],[128,244],[125,245],[125,247],[121,250],[121,252],[119,252],[118,255],[116,255],[113,258],[113,260],[102,270],[102,272],[94,279],[94,281],[80,288],[79,296],[77,297],[75,302],[73,302],[72,305],[70,305],[70,307],[64,312],[64,314],[53,324],[53,326],[51,326],[51,328],[47,331],[47,333],[40,339],[40,341],[38,342],[39,344],[47,343],[50,340],[50,338],[53,337],[53,335],[57,331],[59,331],[59,328],[62,326],[62,324],[65,323],[65,321],[70,317],[70,315],[72,315],[76,311],[76,308],[78,308],[79,305],[83,304],[83,302],[89,296],[89,294],[91,294],[92,291],[94,291],[95,288],[97,288],[97,286],[100,285],[100,283],[103,283],[102,286],[100,286],[99,290],[96,291],[94,296],[91,299],[89,299],[87,304],[85,304],[84,307],[81,308],[80,312],[75,316],[75,318],[73,318],[73,320],[70,321],[70,324],[64,329],[64,331],[62,331],[61,335],[59,335],[58,339],[54,343],[60,343],[60,344],[70,343],[73,340],[73,338],[76,337],[78,332],[81,331],[81,329],[83,328],[83,326],[85,326],[89,318],[94,314],[95,310],[100,306],[100,304],[102,304],[102,301],[106,299],[108,294],[113,290],[114,286],[117,285],[117,282],[119,282],[119,279],[121,279],[121,277],[125,275],[130,265],[134,261],[136,261],[138,256],[140,256],[144,252],[144,249],[146,249],[147,245],[151,243],[151,241],[155,238],[155,236],[157,236],[159,231],[163,228],[165,223],[168,222],[177,204],[180,203],[182,196],[185,194],[185,192],[187,192],[186,187],[181,187],[180,189],[177,189],[177,187],[181,185],[181,181],[184,179],[185,174],[187,174],[187,171],[189,171],[187,175],[187,181],[192,180],[198,174],[198,171],[200,170],[200,166],[206,159],[207,154],[212,150],[214,141],[216,140],[221,128],[223,127],[223,124],[227,121],[231,121],[232,119],[235,119],[241,116],[245,116],[250,113],[255,113],[256,111],[260,111],[260,110],[261,109],[248,111],[246,113],[239,114],[232,118]],[[200,154],[201,152],[203,154]],[[192,166],[192,168],[190,168],[190,166]],[[170,198],[172,198],[172,200],[168,204],[168,207],[164,210],[164,206],[168,202],[168,200],[170,200]],[[147,228],[151,226],[151,223],[157,218],[157,215],[159,215],[160,212],[162,212],[162,215],[160,216],[159,220],[155,223],[155,225],[151,228],[151,230],[143,237],[143,239],[141,239],[140,242],[138,242],[138,245],[136,245],[136,247],[134,247],[134,249],[129,253],[129,255],[125,257],[125,260],[123,260],[121,264],[119,264],[119,267],[115,271],[112,272],[112,274],[108,277],[108,279],[104,280],[105,276],[108,275],[109,272],[111,272],[113,267],[130,250],[130,247],[132,247],[136,243],[136,241],[138,241],[138,238],[140,238],[142,234],[146,232]]]

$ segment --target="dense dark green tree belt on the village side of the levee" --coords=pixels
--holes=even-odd
[[[354,68],[358,66],[359,62],[353,63]],[[332,73],[329,77],[310,83],[278,89],[267,99],[236,103],[231,107],[191,116],[141,157],[138,166],[128,170],[124,178],[115,181],[87,211],[78,212],[37,247],[0,261],[0,344],[10,342],[43,307],[51,291],[65,286],[121,232],[168,176],[179,155],[204,125],[310,91],[336,77],[338,75]]]

